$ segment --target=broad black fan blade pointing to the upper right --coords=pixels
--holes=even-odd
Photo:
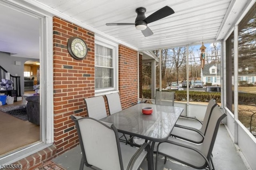
[[[161,8],[160,10],[154,12],[150,16],[148,16],[144,21],[149,24],[150,22],[154,22],[157,20],[160,20],[166,16],[174,14],[174,10],[170,8],[169,6],[165,6]]]

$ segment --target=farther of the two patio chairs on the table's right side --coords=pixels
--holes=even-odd
[[[193,143],[202,143],[212,114],[218,104],[211,99],[207,105],[203,123],[194,117],[180,117],[172,130],[171,136],[188,140]]]

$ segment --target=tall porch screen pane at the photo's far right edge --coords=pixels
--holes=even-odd
[[[238,29],[238,119],[256,136],[256,4]]]

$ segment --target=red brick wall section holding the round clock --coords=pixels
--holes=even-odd
[[[83,60],[72,58],[68,39],[82,38],[88,46]],[[70,115],[85,116],[84,98],[94,96],[94,33],[60,18],[53,18],[54,144],[61,154],[78,144]]]

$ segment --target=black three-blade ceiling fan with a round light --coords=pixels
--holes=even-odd
[[[157,20],[160,20],[166,16],[174,14],[174,10],[170,8],[169,6],[165,6],[161,8],[160,10],[157,10],[150,16],[146,18],[145,12],[146,8],[140,7],[136,10],[137,17],[135,19],[135,23],[106,23],[106,26],[129,26],[129,25],[135,25],[137,30],[141,30],[142,34],[145,37],[153,35],[153,32],[148,28],[148,24],[151,22],[155,22]]]

